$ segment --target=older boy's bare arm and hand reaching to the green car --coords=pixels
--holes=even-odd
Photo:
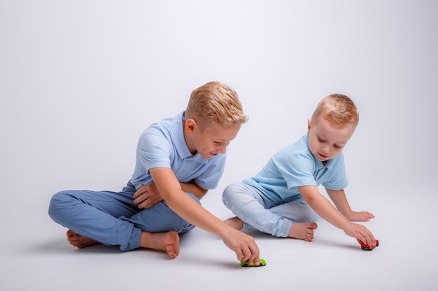
[[[227,225],[186,195],[171,169],[156,167],[150,169],[150,174],[164,201],[176,214],[192,225],[221,237],[224,244],[236,253],[237,260],[260,263],[259,249],[253,237]]]

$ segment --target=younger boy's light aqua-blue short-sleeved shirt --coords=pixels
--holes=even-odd
[[[341,153],[323,165],[311,154],[309,137],[304,135],[274,154],[255,177],[244,179],[243,183],[274,200],[289,202],[302,197],[298,186],[323,184],[326,188],[341,190],[348,185],[348,180],[344,155]]]

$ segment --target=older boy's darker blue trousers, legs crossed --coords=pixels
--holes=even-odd
[[[128,182],[120,192],[71,190],[61,191],[50,200],[49,216],[84,237],[122,251],[139,248],[141,231],[178,233],[195,226],[183,220],[162,201],[149,209],[139,209],[132,200],[136,192]],[[201,202],[192,193],[187,193]]]

